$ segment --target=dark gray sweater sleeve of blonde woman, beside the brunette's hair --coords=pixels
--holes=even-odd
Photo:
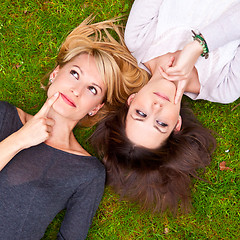
[[[66,214],[58,233],[58,240],[82,240],[86,238],[101,201],[104,185],[105,169],[102,166],[94,171],[92,181],[88,184],[81,184],[69,199]]]

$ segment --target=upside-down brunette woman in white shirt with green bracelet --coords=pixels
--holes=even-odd
[[[125,41],[151,79],[92,138],[121,196],[155,210],[190,206],[191,176],[210,163],[215,139],[182,95],[239,98],[239,12],[235,0],[134,2]]]

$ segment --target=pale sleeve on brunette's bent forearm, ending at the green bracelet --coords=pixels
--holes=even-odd
[[[208,48],[213,51],[231,41],[240,39],[240,2],[232,5],[218,19],[203,29]]]

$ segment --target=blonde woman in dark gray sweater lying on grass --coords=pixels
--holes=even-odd
[[[96,123],[146,77],[122,43],[120,27],[88,21],[61,46],[48,99],[36,115],[0,102],[0,239],[40,239],[64,208],[58,239],[87,236],[105,169],[73,129],[82,120]]]

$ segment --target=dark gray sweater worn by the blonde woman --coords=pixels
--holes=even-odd
[[[0,101],[0,141],[21,127],[16,108]],[[0,239],[39,240],[62,209],[58,239],[85,239],[104,184],[105,169],[95,157],[44,143],[19,152],[0,172]]]

